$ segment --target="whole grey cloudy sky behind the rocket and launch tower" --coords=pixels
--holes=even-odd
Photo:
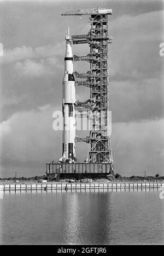
[[[163,175],[162,1],[0,1],[1,166],[0,176],[43,175],[45,163],[62,153],[62,131],[52,129],[61,110],[65,35],[87,34],[87,16],[61,16],[69,10],[113,9],[109,16],[110,110],[116,172]],[[88,45],[73,46],[84,55]],[[89,64],[74,63],[87,71]],[[77,99],[89,98],[77,88]],[[85,135],[89,135],[88,132]],[[88,146],[77,144],[86,160]]]

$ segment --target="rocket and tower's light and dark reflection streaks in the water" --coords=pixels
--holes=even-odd
[[[62,203],[62,207],[65,208],[64,242],[109,243],[112,238],[112,199],[112,192],[71,192],[71,197]]]

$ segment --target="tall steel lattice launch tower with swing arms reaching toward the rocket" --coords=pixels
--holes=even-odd
[[[90,70],[85,74],[80,74],[78,71],[74,72],[75,85],[90,88],[90,99],[84,103],[77,102],[75,109],[78,112],[83,112],[83,109],[87,110],[91,120],[90,135],[86,138],[75,137],[75,141],[90,144],[85,165],[95,164],[98,169],[103,169],[103,165],[106,164],[106,174],[113,175],[114,163],[109,135],[108,68],[108,43],[112,43],[112,37],[108,36],[108,15],[112,15],[112,10],[94,8],[67,12],[62,15],[89,15],[91,25],[88,34],[71,37],[73,44],[87,43],[90,47],[90,53],[85,56],[73,56],[74,62],[85,60],[90,63]],[[100,167],[101,164],[102,166]],[[95,166],[93,167],[94,173],[96,172]],[[50,173],[49,168],[50,166],[48,166],[47,172]],[[102,170],[102,172],[104,171]]]

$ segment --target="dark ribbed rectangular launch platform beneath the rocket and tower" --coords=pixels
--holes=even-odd
[[[110,163],[47,163],[46,175],[58,177],[112,177]]]

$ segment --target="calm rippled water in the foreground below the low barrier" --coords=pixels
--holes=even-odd
[[[1,244],[163,244],[160,191],[5,192]]]

